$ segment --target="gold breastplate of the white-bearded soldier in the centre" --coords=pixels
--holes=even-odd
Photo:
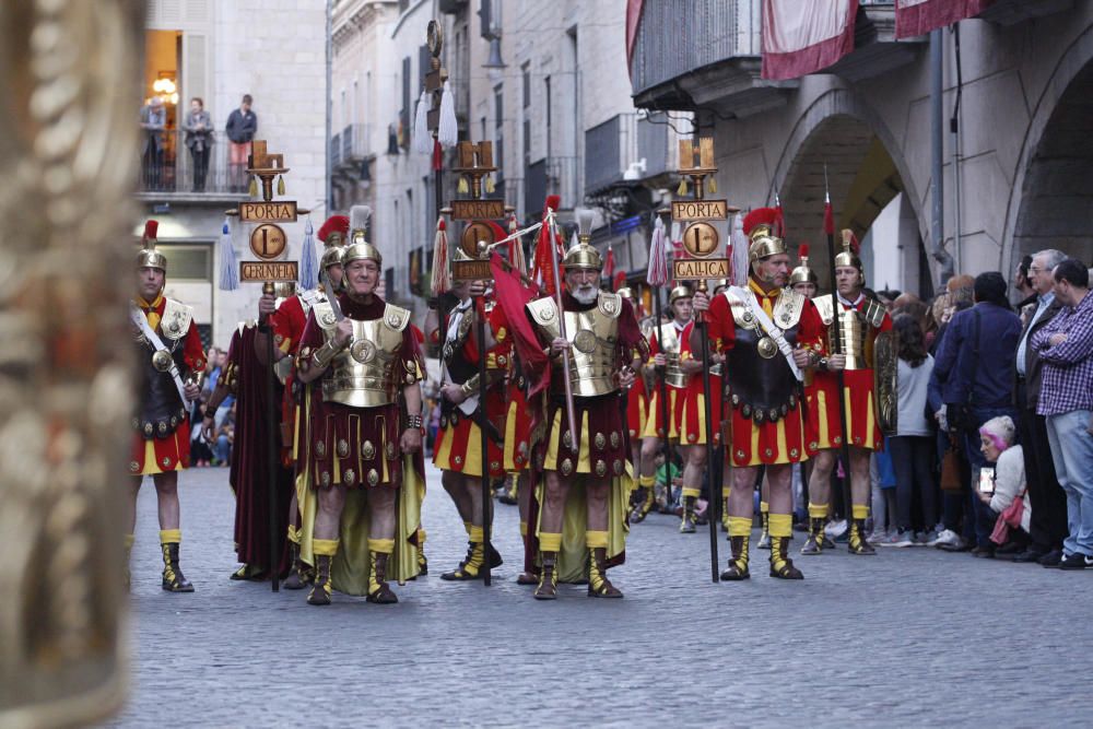
[[[560,336],[557,306],[553,298],[528,304],[534,322],[546,339]],[[569,383],[577,397],[607,395],[619,389],[614,383],[619,341],[621,297],[600,292],[597,306],[587,311],[565,311],[565,338],[569,341]],[[553,367],[553,385],[562,386],[562,367]]]

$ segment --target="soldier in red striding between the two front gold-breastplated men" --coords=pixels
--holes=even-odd
[[[466,260],[462,249],[456,250],[454,260]],[[440,575],[446,580],[478,579],[482,565],[490,560],[490,568],[502,564],[501,555],[491,546],[484,553],[485,528],[483,521],[482,479],[504,475],[502,462],[502,428],[505,426],[505,377],[512,345],[504,327],[493,328],[490,311],[492,302],[483,295],[484,282],[460,281],[453,284],[451,293],[458,304],[448,315],[448,329],[440,351],[443,372],[440,386],[440,430],[433,448],[433,462],[444,474],[444,490],[459,512],[467,530],[467,556],[451,572]],[[485,319],[485,341],[478,341],[475,322]],[[426,329],[436,327],[430,316]],[[485,356],[486,401],[479,407],[479,357]],[[486,431],[486,452],[482,452],[482,428]],[[490,509],[491,517],[493,509]]]

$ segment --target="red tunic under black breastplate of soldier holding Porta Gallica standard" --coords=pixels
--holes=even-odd
[[[749,281],[749,286],[755,293],[759,304],[769,315],[781,290],[765,293],[752,281]],[[732,318],[729,299],[724,295],[715,296],[710,301],[706,320],[713,350],[728,355],[726,366],[731,371],[731,352],[737,338],[737,324]],[[801,310],[795,343],[797,346],[811,346],[820,351],[823,349],[823,321],[812,302],[807,302]],[[775,356],[780,357],[781,354]],[[797,400],[795,407],[790,408],[784,418],[762,423],[745,418],[740,408],[730,408],[728,420],[731,430],[732,463],[747,467],[761,463],[796,463],[806,460],[813,450],[809,448],[809,434],[806,431],[802,408],[803,402]]]

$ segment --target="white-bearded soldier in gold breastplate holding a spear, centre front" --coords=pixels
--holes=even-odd
[[[563,310],[553,297],[527,305],[550,357],[549,372],[542,375],[551,378],[545,438],[538,452],[542,483],[536,537],[541,572],[534,597],[540,600],[556,597],[560,579],[583,577],[588,579],[589,597],[622,597],[607,577],[608,567],[625,556],[631,480],[619,390],[633,381],[627,365],[634,349],[644,358],[647,344],[630,302],[599,291],[603,260],[588,244],[590,213],[581,214],[580,228],[577,245],[562,261]],[[568,425],[562,357],[568,358],[576,432]]]

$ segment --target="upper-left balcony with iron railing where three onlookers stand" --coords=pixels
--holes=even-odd
[[[138,199],[214,202],[247,197],[246,160],[231,164],[231,143],[223,136],[214,137],[204,150],[188,148],[180,129],[158,132],[153,141],[142,150]]]

